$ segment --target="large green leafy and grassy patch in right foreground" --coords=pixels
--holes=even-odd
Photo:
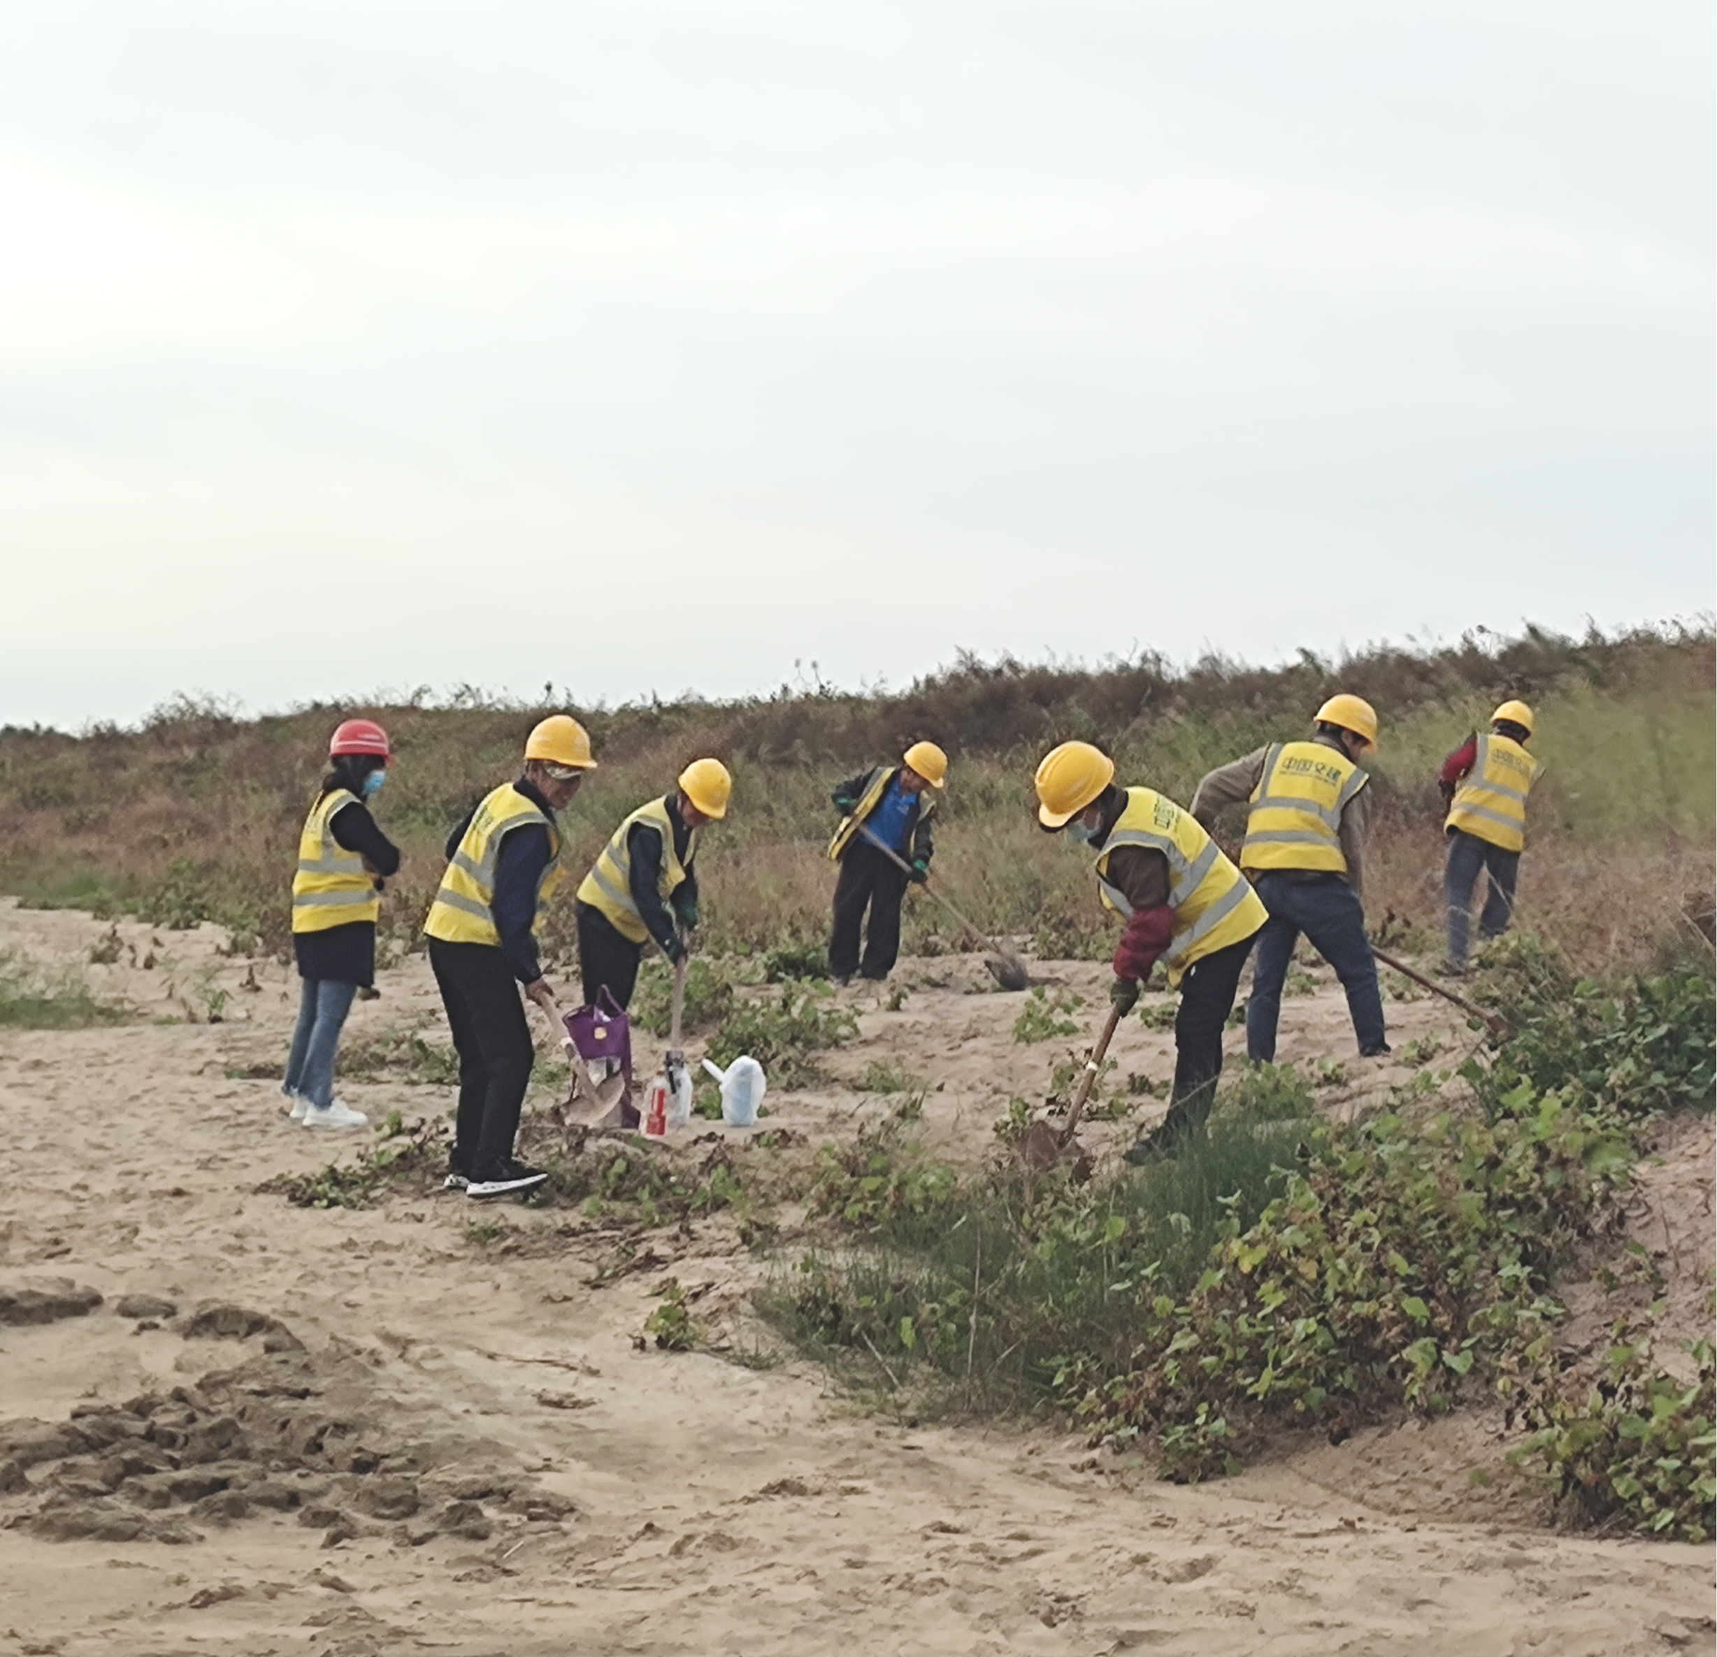
[[[917,1411],[1066,1411],[1171,1478],[1223,1473],[1274,1427],[1341,1435],[1489,1389],[1537,1427],[1521,1460],[1571,1513],[1708,1535],[1708,1351],[1691,1389],[1633,1343],[1571,1393],[1550,1281],[1612,1223],[1636,1125],[1710,1108],[1710,975],[1569,996],[1521,943],[1475,989],[1513,998],[1518,1034],[1475,1066],[1478,1109],[1425,1123],[1327,1123],[1293,1066],[1238,1066],[1178,1159],[1090,1183],[1011,1156],[960,1178],[898,1121],[824,1147],[810,1205],[834,1233],[761,1308]],[[999,1142],[1028,1120],[1015,1101]]]

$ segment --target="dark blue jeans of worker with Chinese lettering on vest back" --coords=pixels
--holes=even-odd
[[[1336,968],[1348,992],[1348,1017],[1360,1039],[1360,1053],[1382,1053],[1384,998],[1377,987],[1377,960],[1365,936],[1365,910],[1339,874],[1288,874],[1279,869],[1259,876],[1259,896],[1271,919],[1259,932],[1259,963],[1252,972],[1247,1003],[1247,1058],[1271,1063],[1276,1058],[1276,1022],[1283,1010],[1283,984],[1293,962],[1293,946],[1305,932],[1319,955]]]

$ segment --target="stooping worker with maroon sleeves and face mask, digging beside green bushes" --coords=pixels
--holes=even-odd
[[[1174,1015],[1174,1085],[1162,1123],[1126,1152],[1130,1162],[1173,1156],[1204,1126],[1223,1073],[1223,1029],[1240,972],[1269,915],[1221,847],[1166,795],[1119,788],[1114,761],[1089,742],[1063,742],[1037,768],[1037,821],[1097,853],[1102,905],[1126,919],[1109,1001],[1126,1017],[1157,960]]]

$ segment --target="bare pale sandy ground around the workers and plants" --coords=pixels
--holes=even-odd
[[[596,1286],[598,1245],[561,1236],[563,1214],[508,1209],[496,1250],[467,1238],[477,1205],[457,1195],[328,1212],[258,1195],[271,1174],[352,1154],[290,1125],[275,1083],[228,1075],[280,1054],[295,984],[220,956],[208,929],[120,924],[120,962],[86,967],[105,931],[0,907],[0,948],[86,970],[144,1015],[0,1032],[0,1290],[65,1279],[103,1296],[0,1327],[0,1413],[50,1423],[0,1429],[14,1465],[60,1434],[46,1444],[60,1460],[36,1461],[26,1489],[0,1473],[0,1518],[36,1511],[58,1468],[62,1511],[84,1516],[62,1530],[86,1532],[0,1530],[0,1657],[1717,1650],[1710,1547],[1542,1528],[1475,1417],[1288,1444],[1180,1489],[1042,1429],[862,1413],[810,1365],[637,1350],[670,1266],[743,1327],[759,1266],[718,1223],[656,1272]],[[1046,970],[1075,991],[1102,982],[1087,965]],[[1044,1094],[1054,1044],[1011,1042],[1018,998],[984,992],[974,962],[913,962],[900,979],[898,1011],[860,1001],[864,1035],[838,1068],[924,1073],[927,1137],[977,1154],[1010,1094]],[[223,1022],[184,1022],[221,989]],[[421,963],[381,989],[352,1039],[431,1020]],[[168,1017],[180,1022],[151,1022]],[[1470,1041],[1435,1003],[1392,1005],[1391,1020],[1398,1049],[1435,1041],[1439,1065]],[[1406,1078],[1351,1056],[1322,977],[1286,1003],[1283,1032],[1283,1058],[1343,1058],[1331,1109]],[[1130,1023],[1116,1056],[1123,1075],[1166,1078],[1169,1051],[1166,1032]],[[402,1083],[342,1092],[378,1116],[448,1102]],[[886,1108],[850,1089],[769,1102],[771,1126],[814,1137]],[[1161,1111],[1145,1108],[1145,1121]],[[1135,1130],[1097,1125],[1092,1144]],[[1714,1248],[1708,1125],[1662,1150],[1636,1235],[1698,1276]],[[122,1314],[127,1295],[177,1315]],[[1691,1290],[1695,1324],[1703,1305]],[[199,1307],[227,1310],[197,1324]],[[118,1537],[127,1527],[101,1518],[117,1504],[105,1470],[143,1415],[113,1406],[139,1396],[254,1499],[209,1494]],[[67,1418],[84,1423],[70,1439]]]

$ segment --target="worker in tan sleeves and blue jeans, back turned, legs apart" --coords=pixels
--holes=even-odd
[[[1276,1025],[1293,946],[1303,932],[1336,968],[1362,1058],[1389,1051],[1377,960],[1365,936],[1365,836],[1370,797],[1360,756],[1377,747],[1377,711],[1363,697],[1332,695],[1310,742],[1271,742],[1210,771],[1192,797],[1209,828],[1224,805],[1247,800],[1240,867],[1271,912],[1259,938],[1247,1003],[1247,1054],[1276,1058]]]

